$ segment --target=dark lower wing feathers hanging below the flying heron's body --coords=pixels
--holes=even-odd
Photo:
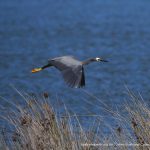
[[[68,68],[62,71],[63,78],[65,82],[70,87],[80,88],[85,86],[85,77],[84,70],[82,66],[78,66],[77,68]]]

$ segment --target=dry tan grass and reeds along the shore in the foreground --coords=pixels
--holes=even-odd
[[[57,113],[49,103],[47,93],[37,98],[17,92],[26,106],[11,103],[14,109],[0,116],[11,127],[11,131],[1,131],[2,150],[150,149],[150,109],[142,97],[129,90],[130,103],[124,105],[124,116],[105,104],[105,109],[118,125],[114,128],[106,124],[105,128],[110,131],[106,135],[101,129],[100,115],[95,117],[90,128],[85,129],[80,123],[81,116],[71,115],[65,105],[65,115]]]

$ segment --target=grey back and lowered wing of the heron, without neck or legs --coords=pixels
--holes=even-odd
[[[49,60],[49,63],[61,71],[64,80],[70,87],[78,88],[85,85],[83,66],[73,56],[57,57]]]

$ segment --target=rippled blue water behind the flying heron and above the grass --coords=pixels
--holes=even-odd
[[[149,103],[149,16],[149,0],[1,0],[0,95],[21,101],[13,85],[26,93],[46,91],[52,103],[62,99],[75,113],[102,113],[86,92],[121,108],[126,85]],[[62,55],[102,56],[109,63],[86,66],[84,90],[66,86],[54,68],[30,73]]]

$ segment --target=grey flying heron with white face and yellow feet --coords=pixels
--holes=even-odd
[[[48,60],[48,64],[40,68],[35,68],[32,70],[32,73],[39,72],[45,68],[54,66],[59,71],[61,71],[65,82],[70,87],[80,88],[85,86],[85,76],[84,76],[84,65],[87,65],[91,62],[107,62],[102,58],[89,58],[85,61],[79,61],[73,56],[62,56],[56,57]]]

